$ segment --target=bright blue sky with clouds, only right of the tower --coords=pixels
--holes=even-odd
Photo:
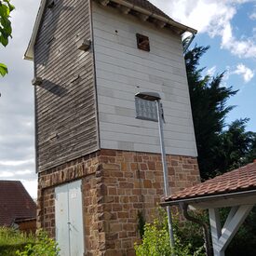
[[[247,129],[256,131],[256,0],[151,2],[174,20],[198,30],[192,47],[195,43],[210,47],[200,62],[205,74],[225,71],[223,85],[239,90],[227,102],[236,108],[226,123],[249,117]]]

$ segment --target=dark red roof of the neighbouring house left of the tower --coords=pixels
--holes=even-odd
[[[15,219],[35,218],[36,205],[21,182],[0,181],[0,225],[9,226]]]

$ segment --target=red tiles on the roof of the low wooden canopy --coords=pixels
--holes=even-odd
[[[256,161],[206,182],[196,184],[193,187],[185,188],[179,193],[168,196],[165,201],[177,201],[208,195],[222,195],[252,189],[256,189]]]

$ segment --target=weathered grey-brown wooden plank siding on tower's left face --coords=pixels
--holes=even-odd
[[[34,47],[37,168],[53,168],[99,148],[88,0],[56,0],[46,8]],[[55,136],[56,135],[56,136]]]

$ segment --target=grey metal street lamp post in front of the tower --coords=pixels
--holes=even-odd
[[[165,196],[168,196],[171,194],[171,190],[168,185],[168,167],[167,167],[167,157],[166,157],[166,149],[165,149],[165,142],[164,142],[163,111],[161,107],[161,98],[160,98],[160,95],[155,92],[138,92],[137,94],[135,94],[135,97],[140,98],[144,101],[156,102],[161,155],[162,155],[162,165],[163,165],[163,174],[164,174],[164,184],[165,184]],[[150,118],[147,118],[145,116],[142,116],[141,119],[151,120]],[[173,229],[172,229],[171,211],[169,206],[167,207],[167,211],[168,211],[169,242],[170,242],[171,248],[174,249],[175,243],[174,243],[174,236],[173,236]],[[174,253],[172,253],[172,255],[174,255]]]

